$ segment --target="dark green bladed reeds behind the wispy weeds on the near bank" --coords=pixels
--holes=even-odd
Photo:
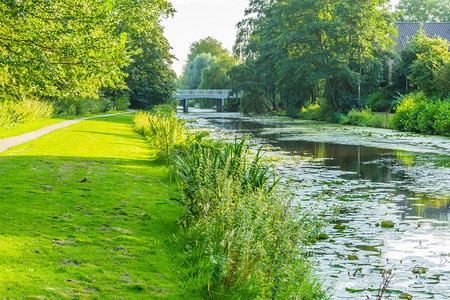
[[[278,181],[272,178],[269,182],[270,167],[261,162],[260,151],[249,161],[245,139],[213,147],[192,144],[189,154],[176,160],[176,169],[183,182],[180,203],[189,218],[202,216],[205,209],[215,210],[220,201],[219,185],[223,176],[238,181],[243,194],[248,189],[270,192]]]

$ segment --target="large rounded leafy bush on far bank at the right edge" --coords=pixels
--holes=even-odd
[[[399,130],[450,135],[450,101],[431,100],[423,93],[405,96],[396,107],[392,125]]]

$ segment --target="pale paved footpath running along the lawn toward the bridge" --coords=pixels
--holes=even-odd
[[[29,142],[34,139],[37,139],[38,137],[41,137],[44,134],[50,133],[50,132],[55,131],[60,128],[70,126],[72,124],[78,123],[83,120],[109,117],[109,116],[115,116],[115,115],[121,115],[121,114],[129,114],[131,112],[134,112],[134,110],[129,109],[127,112],[118,113],[118,114],[107,114],[107,115],[101,115],[101,116],[84,117],[84,118],[78,118],[78,119],[73,119],[73,120],[67,120],[67,121],[63,121],[61,123],[46,126],[41,129],[38,129],[36,131],[28,132],[28,133],[25,133],[25,134],[22,134],[19,136],[13,136],[13,137],[6,138],[6,139],[0,139],[0,153],[8,150],[9,148],[18,146],[20,144]]]

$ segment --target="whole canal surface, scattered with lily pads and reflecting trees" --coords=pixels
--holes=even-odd
[[[283,118],[181,114],[217,138],[249,134],[303,207],[338,207],[310,246],[332,299],[450,299],[450,139]],[[391,221],[393,228],[379,226]]]

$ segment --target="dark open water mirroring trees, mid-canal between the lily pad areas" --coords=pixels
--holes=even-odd
[[[320,163],[325,167],[338,168],[346,172],[344,175],[339,175],[342,179],[393,183],[392,195],[383,196],[388,198],[385,200],[392,200],[398,204],[399,214],[402,218],[414,216],[438,221],[450,220],[450,204],[447,192],[418,193],[411,188],[415,181],[419,179],[417,178],[418,174],[416,174],[417,172],[409,174],[406,171],[416,166],[418,160],[421,163],[420,160],[427,161],[429,158],[421,157],[419,159],[415,153],[401,150],[295,140],[292,137],[302,135],[301,127],[269,134],[265,132],[266,129],[289,127],[290,123],[288,122],[261,122],[241,119],[215,119],[210,121],[226,130],[251,132],[255,137],[266,138],[273,146],[293,155],[321,159]],[[291,138],[289,140],[283,139],[286,136]],[[433,158],[435,159],[436,156]],[[437,159],[435,164],[436,167],[448,167],[448,157]],[[369,188],[366,191],[376,193],[376,189]],[[383,194],[386,194],[386,192],[384,191]]]

